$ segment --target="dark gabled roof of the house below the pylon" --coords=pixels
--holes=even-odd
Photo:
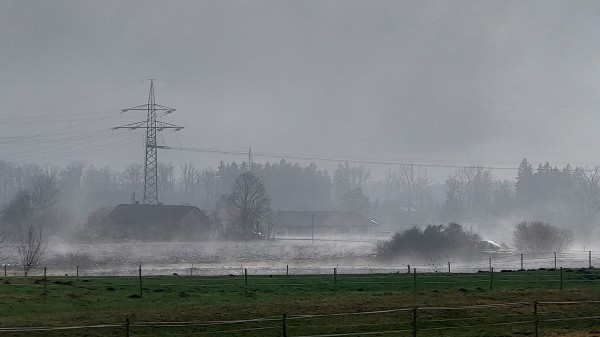
[[[110,213],[110,218],[118,224],[165,224],[180,222],[192,212],[210,221],[198,207],[179,205],[121,204]]]

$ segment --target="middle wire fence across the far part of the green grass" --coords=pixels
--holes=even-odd
[[[290,291],[399,291],[420,293],[426,291],[458,290],[463,292],[487,290],[525,289],[584,289],[600,287],[600,272],[595,268],[563,268],[538,271],[491,271],[477,273],[421,273],[416,268],[411,273],[389,274],[340,274],[333,268],[330,275],[258,275],[244,270],[243,276],[156,276],[144,275],[142,266],[137,276],[53,276],[43,273],[31,277],[6,277],[5,288],[72,285],[76,280],[89,281],[86,289],[118,287],[143,296],[151,289],[190,288],[223,293],[252,293],[268,291],[289,293]],[[190,280],[182,283],[180,280]],[[117,283],[114,283],[117,282]],[[109,285],[107,285],[109,284]]]

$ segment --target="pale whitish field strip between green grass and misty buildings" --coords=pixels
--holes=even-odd
[[[7,274],[20,274],[16,245],[7,245],[2,264]],[[524,269],[585,268],[600,265],[600,252],[527,254]],[[40,268],[33,275],[250,275],[478,272],[517,270],[521,254],[482,254],[473,258],[438,256],[428,261],[398,258],[383,262],[376,257],[375,240],[269,240],[252,242],[50,242]],[[450,270],[449,270],[450,269]]]

